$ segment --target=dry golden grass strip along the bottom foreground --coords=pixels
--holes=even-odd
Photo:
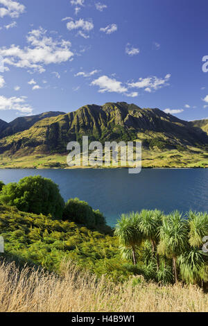
[[[0,311],[208,311],[208,295],[196,286],[114,285],[78,271],[73,264],[64,264],[62,271],[58,276],[0,264]]]

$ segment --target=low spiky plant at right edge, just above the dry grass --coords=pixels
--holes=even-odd
[[[178,261],[183,280],[192,284],[207,282],[207,254],[205,252],[191,248],[191,250],[180,255]]]

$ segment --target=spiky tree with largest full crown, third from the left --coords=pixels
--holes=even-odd
[[[189,247],[188,235],[187,219],[183,218],[180,212],[175,211],[163,218],[158,250],[166,257],[173,259],[175,282],[177,282],[177,257],[182,255]]]

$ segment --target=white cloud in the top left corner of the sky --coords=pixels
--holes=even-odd
[[[0,8],[0,17],[10,16],[18,18],[25,11],[25,6],[13,0],[0,0],[3,7]]]

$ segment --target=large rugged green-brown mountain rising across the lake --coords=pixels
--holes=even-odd
[[[1,157],[10,157],[14,162],[21,157],[27,157],[26,160],[33,157],[36,160],[37,156],[63,155],[67,153],[67,143],[77,140],[81,144],[83,135],[88,135],[89,141],[98,140],[102,143],[141,140],[144,152],[147,153],[148,166],[151,160],[155,160],[156,154],[157,157],[162,157],[161,152],[169,155],[175,151],[174,157],[179,159],[172,159],[173,163],[177,161],[186,164],[192,162],[193,153],[199,157],[207,151],[206,132],[193,123],[180,120],[157,108],[141,109],[134,104],[118,102],[85,105],[74,112],[57,115],[58,113],[55,112],[55,117],[51,117],[51,112],[45,116],[41,114],[39,118],[32,117],[31,121],[28,121],[29,117],[24,118],[26,120],[21,120],[21,128],[25,130],[21,132],[17,123],[12,121],[15,128],[12,129],[10,125],[10,129],[4,130],[4,133],[9,130],[10,135],[1,136],[0,139]],[[38,121],[34,123],[35,119]],[[150,155],[153,153],[152,158]],[[186,162],[180,160],[182,155],[186,155]],[[160,160],[162,158],[158,159],[157,165]],[[171,157],[168,157],[168,160],[171,160]],[[2,164],[0,163],[0,166]],[[41,161],[40,166],[42,164],[48,166],[46,162]]]

